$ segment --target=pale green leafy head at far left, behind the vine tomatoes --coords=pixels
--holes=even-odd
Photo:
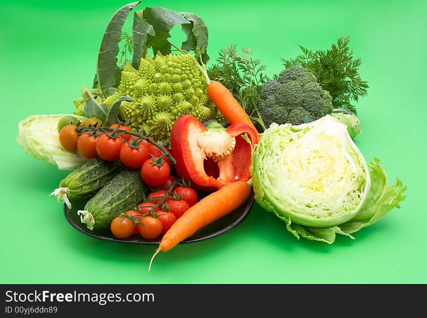
[[[19,146],[34,158],[57,165],[60,170],[80,167],[88,159],[65,150],[59,143],[58,122],[66,116],[70,115],[33,115],[19,121],[16,136]]]

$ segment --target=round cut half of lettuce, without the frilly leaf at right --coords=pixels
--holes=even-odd
[[[255,154],[256,198],[301,225],[326,228],[348,221],[371,186],[347,126],[329,115],[298,126],[273,123]]]

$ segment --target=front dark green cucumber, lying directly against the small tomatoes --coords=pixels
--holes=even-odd
[[[82,224],[95,233],[110,230],[113,218],[142,202],[148,194],[148,186],[141,178],[139,169],[124,169],[105,184],[77,213]]]

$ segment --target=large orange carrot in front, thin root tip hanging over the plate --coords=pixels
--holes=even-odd
[[[237,209],[249,197],[251,189],[247,182],[230,182],[191,206],[163,235],[159,248],[151,258],[148,270],[159,251],[166,252],[173,249],[202,227]]]

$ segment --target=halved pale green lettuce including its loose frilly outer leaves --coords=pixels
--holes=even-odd
[[[379,160],[366,165],[346,126],[328,115],[273,124],[253,153],[251,176],[255,200],[289,232],[329,244],[336,234],[354,238],[405,199],[401,181],[390,187]]]

